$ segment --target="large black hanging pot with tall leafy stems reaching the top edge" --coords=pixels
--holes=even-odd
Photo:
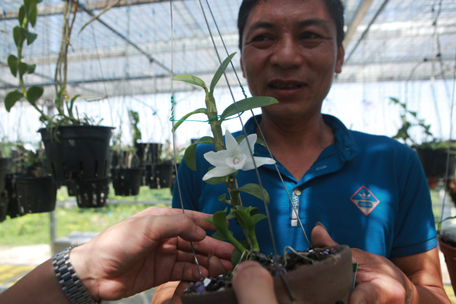
[[[23,77],[32,74],[35,65],[28,65],[22,60],[22,47],[32,44],[37,34],[29,32],[29,25],[36,23],[36,4],[41,1],[25,1],[19,9],[19,26],[14,27],[13,37],[17,48],[17,55],[9,55],[8,67],[14,77],[18,77],[20,91],[11,91],[6,95],[5,107],[9,112],[18,100],[25,98],[40,114],[46,128],[41,128],[41,138],[46,148],[48,164],[51,167],[53,178],[59,185],[79,178],[93,180],[107,178],[109,159],[109,139],[112,136],[112,127],[98,126],[95,120],[87,115],[79,116],[77,106],[74,105],[79,95],[70,95],[67,92],[67,49],[69,37],[76,18],[77,1],[66,1],[62,46],[55,72],[55,93],[53,107],[56,114],[46,114],[38,105],[43,94],[41,86],[25,87]],[[74,11],[69,21],[72,8]]]

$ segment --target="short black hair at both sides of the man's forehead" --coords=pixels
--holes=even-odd
[[[243,0],[241,4],[241,8],[239,8],[239,15],[238,15],[238,29],[239,29],[239,50],[242,52],[242,38],[244,27],[246,27],[246,22],[248,15],[250,15],[250,11],[258,4],[260,1],[265,0]],[[337,48],[340,47],[342,41],[344,40],[344,6],[342,5],[342,1],[340,0],[325,0],[326,8],[333,18],[336,27],[336,41],[337,41]]]

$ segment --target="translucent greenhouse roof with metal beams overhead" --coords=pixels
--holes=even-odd
[[[115,6],[81,31],[94,15],[112,4]],[[69,43],[69,89],[74,94],[93,96],[140,95],[170,92],[171,72],[210,79],[220,63],[203,11],[220,57],[224,58],[227,52],[238,51],[236,22],[240,4],[241,0],[175,0],[171,22],[170,1],[81,0]],[[344,6],[345,63],[335,81],[454,77],[456,0],[346,0]],[[12,30],[18,25],[19,7],[18,0],[0,0],[1,100],[19,85],[6,63],[8,55],[16,52]],[[45,86],[45,100],[55,96],[53,84],[64,11],[65,1],[43,0],[33,29],[38,38],[23,52],[27,63],[36,64],[35,73],[25,77],[26,85]],[[241,75],[239,55],[233,63]],[[227,76],[230,84],[237,84],[234,72],[228,71]],[[239,78],[245,85],[245,80]],[[173,83],[174,91],[191,89],[188,84]]]

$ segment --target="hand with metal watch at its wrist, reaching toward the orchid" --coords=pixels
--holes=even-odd
[[[90,242],[72,249],[70,259],[81,282],[95,299],[117,300],[168,281],[200,279],[189,242],[209,275],[208,255],[231,270],[233,246],[206,237],[211,216],[196,211],[152,207],[109,227]],[[220,266],[222,265],[222,266]],[[220,270],[219,270],[220,271]]]

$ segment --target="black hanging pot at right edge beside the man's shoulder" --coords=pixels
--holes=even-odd
[[[445,178],[446,173],[446,149],[431,149],[424,147],[415,148],[418,157],[420,158],[421,164],[424,169],[424,174],[427,178]],[[456,170],[456,156],[450,154],[450,162],[448,172],[450,176]]]

